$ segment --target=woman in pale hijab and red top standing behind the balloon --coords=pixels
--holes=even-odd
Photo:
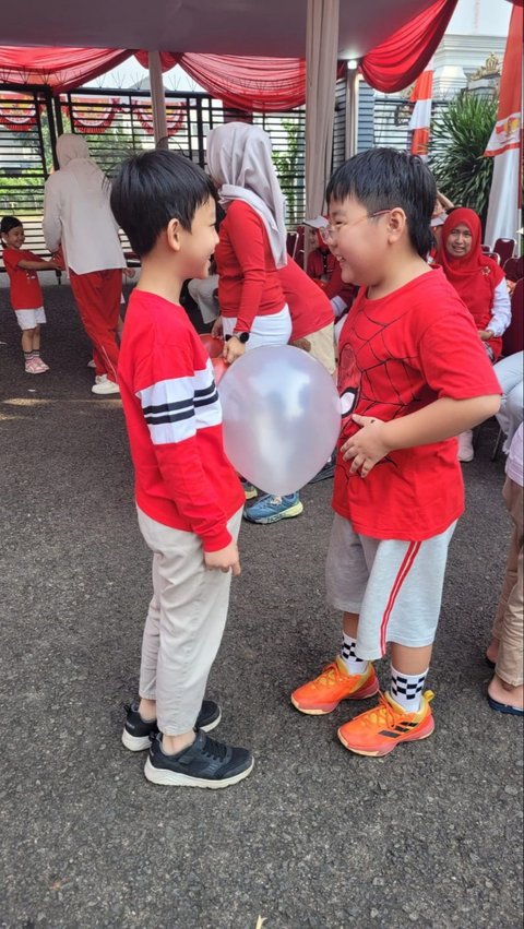
[[[285,345],[291,320],[277,269],[287,263],[284,196],[271,159],[270,136],[246,122],[207,135],[207,165],[226,218],[215,249],[224,333],[231,362],[260,345]]]

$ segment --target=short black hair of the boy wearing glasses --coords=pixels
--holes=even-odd
[[[418,155],[396,148],[370,148],[341,165],[325,193],[331,200],[350,196],[369,214],[400,206],[407,219],[409,241],[421,258],[431,248],[430,221],[437,198],[434,178]]]

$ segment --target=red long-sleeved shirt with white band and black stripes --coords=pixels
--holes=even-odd
[[[224,452],[211,361],[181,307],[133,290],[118,383],[138,505],[158,523],[195,533],[205,551],[225,548],[227,522],[245,495]]]

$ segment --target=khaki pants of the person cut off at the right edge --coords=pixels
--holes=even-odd
[[[503,497],[514,525],[492,635],[500,643],[497,675],[511,687],[519,687],[524,680],[523,489],[514,480],[507,478]]]

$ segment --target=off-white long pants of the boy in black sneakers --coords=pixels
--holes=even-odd
[[[142,640],[139,693],[156,700],[160,733],[179,736],[193,728],[200,713],[226,624],[231,572],[206,570],[194,533],[138,513],[153,551],[153,598]],[[241,515],[240,509],[228,523],[234,539]]]

